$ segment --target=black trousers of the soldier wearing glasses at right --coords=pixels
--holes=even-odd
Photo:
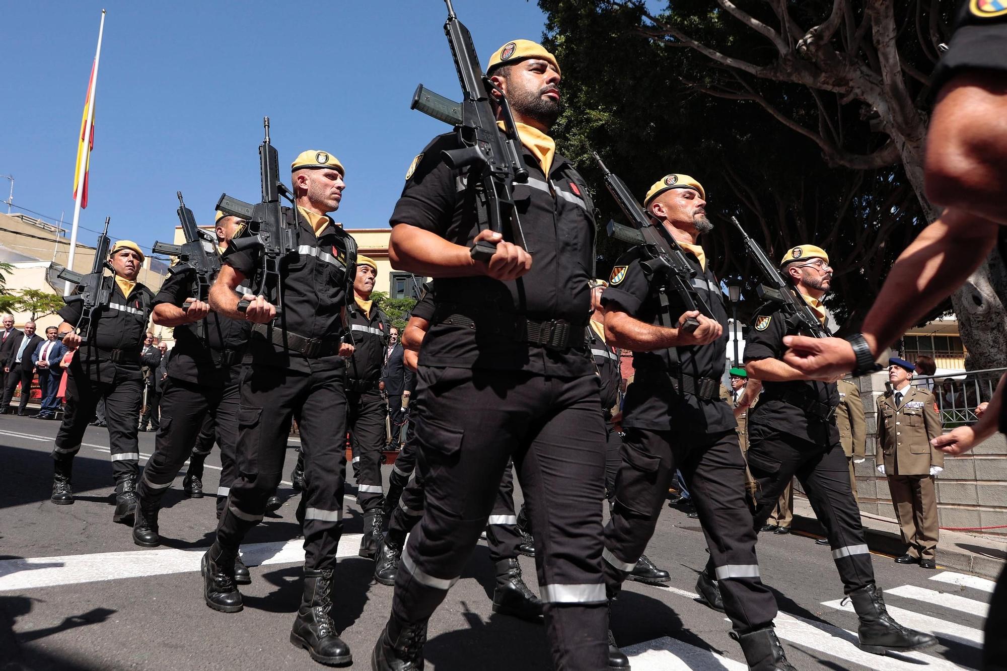
[[[797,477],[826,529],[846,593],[872,584],[874,568],[871,555],[861,551],[867,541],[842,445],[837,441],[825,448],[800,438],[776,437],[753,440],[747,457],[748,469],[759,485],[755,528],[765,524],[780,493]]]

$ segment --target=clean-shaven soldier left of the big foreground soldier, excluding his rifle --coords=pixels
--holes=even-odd
[[[223,613],[242,610],[235,586],[235,560],[242,539],[263,518],[266,500],[280,483],[287,435],[294,417],[304,446],[305,491],[298,509],[304,528],[304,592],[290,642],[324,664],[348,664],[348,646],[329,616],[332,573],[342,533],[345,485],[346,396],[340,343],[343,313],[354,277],[356,245],[328,213],[342,199],[344,170],[335,156],[305,151],[291,164],[296,208],[283,208],[296,249],[280,264],[279,286],[246,293],[239,310],[239,285],[262,271],[255,250],[224,255],[209,305],[219,314],[251,321],[243,359],[238,412],[238,477],[217,527],[217,539],[202,559],[206,605]],[[246,279],[248,278],[248,280]],[[282,296],[282,313],[274,302]]]

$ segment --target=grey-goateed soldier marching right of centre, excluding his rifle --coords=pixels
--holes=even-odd
[[[662,235],[675,239],[711,315],[687,311],[667,278],[640,265],[640,248],[616,261],[601,295],[608,342],[633,350],[635,382],[626,391],[622,463],[605,526],[605,580],[614,597],[654,534],[675,469],[682,471],[707,539],[711,563],[729,594],[724,610],[752,669],[793,669],[776,638],[776,602],[759,577],[755,530],[745,501],[745,463],[734,413],[720,400],[727,311],[699,237],[713,230],[706,192],[686,174],[659,179],[643,199]],[[693,317],[699,326],[682,328]],[[672,324],[669,326],[665,324]],[[697,584],[704,596],[703,579]],[[623,658],[621,666],[628,666]]]

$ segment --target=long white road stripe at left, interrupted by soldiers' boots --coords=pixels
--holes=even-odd
[[[339,540],[336,557],[355,557],[363,534],[345,534]],[[242,558],[249,566],[302,563],[303,538],[242,546]],[[33,557],[0,560],[0,591],[80,584],[99,580],[188,573],[199,570],[206,548],[177,550],[131,550],[61,557]]]

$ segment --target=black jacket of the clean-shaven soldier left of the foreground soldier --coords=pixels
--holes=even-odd
[[[293,210],[284,208],[283,215],[292,225],[295,219]],[[346,268],[355,263],[355,259],[346,258],[349,234],[335,226],[329,218],[328,226],[316,237],[303,217],[297,216],[296,219],[298,247],[280,262],[282,310],[273,325],[303,338],[336,344],[343,332],[342,312],[348,289]],[[257,282],[252,278],[258,273],[262,259],[259,252],[248,250],[227,253],[222,261],[244,275],[247,278],[245,284],[255,288]],[[275,304],[275,295],[268,298]],[[343,360],[337,354],[309,362],[301,353],[288,351],[282,345],[273,345],[254,332],[249,338],[245,363],[290,368],[302,373],[343,366]]]

